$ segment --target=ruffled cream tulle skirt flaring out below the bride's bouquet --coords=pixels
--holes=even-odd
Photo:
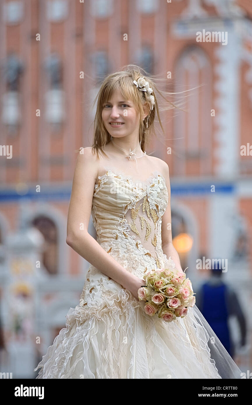
[[[70,308],[36,378],[240,378],[196,305],[172,322],[145,314],[143,306],[120,289],[113,301]]]

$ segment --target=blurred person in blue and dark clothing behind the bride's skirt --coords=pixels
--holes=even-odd
[[[213,299],[214,297],[214,299]],[[241,333],[240,345],[246,344],[246,318],[237,294],[231,286],[222,281],[222,267],[219,263],[211,269],[209,280],[196,292],[196,305],[214,330],[229,355],[234,358],[235,347],[229,330],[229,316],[236,316]]]

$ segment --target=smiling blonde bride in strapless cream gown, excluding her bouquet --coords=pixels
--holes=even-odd
[[[144,73],[128,65],[98,92],[94,142],[79,151],[66,238],[90,266],[79,305],[36,378],[241,378],[196,305],[165,322],[138,299],[149,271],[183,272],[168,226],[169,166],[145,152],[156,114],[160,122],[161,92]],[[88,233],[90,214],[97,241]]]

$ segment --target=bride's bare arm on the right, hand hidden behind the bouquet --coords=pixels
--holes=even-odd
[[[169,201],[167,208],[162,216],[162,249],[164,254],[166,254],[167,258],[171,256],[173,262],[175,263],[175,268],[178,271],[183,272],[179,255],[177,250],[173,246],[172,243],[172,236],[171,236],[171,185],[170,185],[170,176],[169,176],[169,166],[166,162],[164,162],[164,179],[166,182]]]

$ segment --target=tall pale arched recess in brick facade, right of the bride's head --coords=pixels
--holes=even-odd
[[[184,98],[184,111],[174,117],[174,173],[176,175],[209,175],[212,173],[211,64],[205,52],[190,46],[175,63],[174,92]]]

